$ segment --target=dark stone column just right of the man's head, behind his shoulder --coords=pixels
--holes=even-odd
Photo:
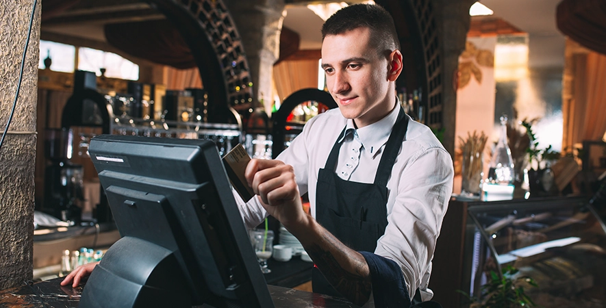
[[[442,111],[444,131],[444,148],[454,157],[455,153],[455,118],[457,112],[457,89],[453,86],[455,71],[459,67],[459,55],[465,50],[467,32],[469,31],[469,8],[475,0],[432,0],[436,20],[440,21],[438,35],[442,48],[444,70],[442,80]]]

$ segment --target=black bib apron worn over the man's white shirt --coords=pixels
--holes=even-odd
[[[374,252],[377,240],[387,227],[387,182],[408,129],[408,117],[402,107],[392,133],[383,149],[374,183],[345,181],[336,175],[335,168],[341,144],[338,140],[318,173],[316,186],[316,220],[355,251]],[[345,129],[339,136],[343,136]],[[314,266],[312,270],[314,292],[331,296],[337,292],[324,275]],[[417,291],[415,298],[420,299]]]

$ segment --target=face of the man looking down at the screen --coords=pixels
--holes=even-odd
[[[392,66],[377,47],[370,45],[368,28],[326,36],[322,44],[322,67],[328,90],[341,113],[353,119],[357,127],[381,120],[394,107],[394,86],[390,84]]]

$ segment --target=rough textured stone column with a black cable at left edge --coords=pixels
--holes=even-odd
[[[0,133],[12,109],[32,5],[34,0],[0,0]],[[0,148],[0,290],[32,275],[39,46],[40,1],[10,133]]]

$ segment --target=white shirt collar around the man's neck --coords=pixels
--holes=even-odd
[[[396,98],[396,105],[394,109],[387,116],[371,125],[366,125],[365,127],[356,129],[355,125],[353,125],[353,120],[347,119],[345,131],[339,137],[338,142],[342,142],[347,132],[350,131],[350,129],[353,129],[355,131],[354,136],[357,135],[357,138],[362,143],[362,146],[364,146],[364,149],[366,149],[366,151],[368,151],[368,153],[374,157],[377,155],[377,153],[379,153],[379,148],[381,148],[383,144],[386,144],[387,140],[389,139],[394,124],[398,119],[399,112],[400,102]]]

